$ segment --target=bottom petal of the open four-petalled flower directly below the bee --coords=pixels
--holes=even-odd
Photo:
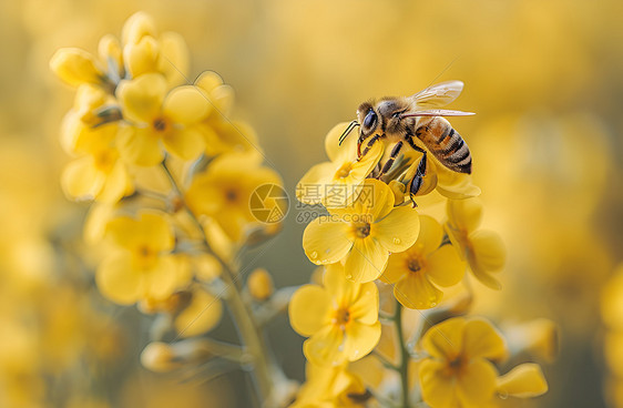
[[[389,252],[374,238],[357,238],[344,265],[346,277],[358,283],[376,279],[382,274]]]

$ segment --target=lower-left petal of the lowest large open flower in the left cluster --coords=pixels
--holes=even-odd
[[[122,305],[139,300],[144,289],[143,275],[131,267],[131,257],[126,253],[104,259],[98,268],[95,282],[102,295]]]

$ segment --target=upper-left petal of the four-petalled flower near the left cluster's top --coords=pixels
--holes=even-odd
[[[159,73],[146,73],[116,88],[123,116],[131,122],[150,125],[161,113],[166,94],[166,80]]]

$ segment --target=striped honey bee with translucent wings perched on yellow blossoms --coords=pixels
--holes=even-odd
[[[442,116],[466,116],[473,113],[438,109],[456,100],[462,90],[461,81],[447,81],[431,85],[411,96],[364,102],[357,109],[357,120],[353,121],[339,137],[339,144],[356,126],[360,126],[357,160],[366,155],[378,141],[395,144],[377,178],[391,169],[405,144],[422,153],[416,174],[409,182],[411,200],[422,185],[427,172],[428,152],[446,167],[458,173],[471,174],[469,147],[459,132]],[[426,150],[420,147],[416,140],[419,140]],[[361,146],[364,146],[362,151]]]

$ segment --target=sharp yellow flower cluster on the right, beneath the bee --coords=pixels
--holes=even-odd
[[[307,257],[323,266],[321,283],[298,289],[289,305],[293,328],[308,337],[307,382],[295,406],[408,407],[420,399],[433,408],[489,407],[545,392],[537,364],[499,374],[497,364],[525,344],[511,349],[489,320],[460,317],[473,298],[466,272],[500,289],[493,274],[505,259],[500,236],[480,228],[483,207],[471,176],[413,151],[379,177],[384,143],[358,156],[356,137],[338,143],[346,129],[341,123],[327,134],[330,162],[315,165],[297,186],[302,203],[321,204],[328,215],[303,234]],[[408,194],[422,160],[422,185]],[[408,330],[409,310],[419,323]],[[391,338],[389,347],[384,338]],[[370,358],[387,379],[366,380],[361,365]]]

